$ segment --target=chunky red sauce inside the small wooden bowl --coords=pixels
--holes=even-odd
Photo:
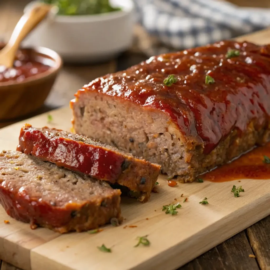
[[[26,78],[47,71],[49,68],[50,66],[31,59],[25,53],[18,53],[12,68],[0,65],[0,84],[9,81],[20,83]]]

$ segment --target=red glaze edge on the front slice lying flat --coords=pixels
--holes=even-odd
[[[31,228],[36,228],[35,224],[50,224],[56,228],[65,226],[72,219],[72,211],[76,210],[73,204],[55,207],[38,201],[38,198],[29,198],[26,192],[15,193],[5,181],[0,183],[0,203],[9,216],[30,222]]]

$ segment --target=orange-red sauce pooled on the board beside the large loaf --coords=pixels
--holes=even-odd
[[[264,156],[270,158],[270,142],[251,150],[231,163],[200,175],[199,178],[211,182],[270,179],[270,164],[264,161]]]

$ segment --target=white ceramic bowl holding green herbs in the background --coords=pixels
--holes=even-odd
[[[29,11],[37,1],[26,5]],[[48,16],[24,40],[23,46],[55,50],[67,62],[97,62],[112,58],[132,42],[132,0],[111,0],[121,11],[95,15]]]

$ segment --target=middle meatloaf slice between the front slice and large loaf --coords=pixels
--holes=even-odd
[[[36,129],[29,124],[21,129],[17,150],[126,187],[125,192],[142,202],[149,200],[160,171],[160,165],[100,141],[48,127]]]

